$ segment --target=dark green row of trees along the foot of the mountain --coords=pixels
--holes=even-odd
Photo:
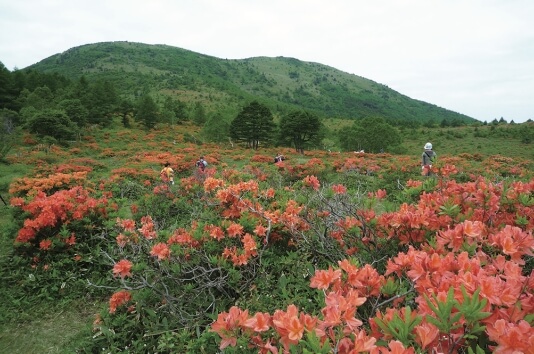
[[[322,139],[332,135],[319,115],[306,110],[279,114],[275,123],[271,109],[253,100],[235,115],[223,116],[220,112],[208,115],[200,102],[188,105],[168,95],[154,95],[148,87],[130,97],[121,97],[107,80],[89,81],[82,76],[71,81],[57,73],[31,69],[10,72],[1,62],[0,117],[3,138],[0,158],[5,157],[21,130],[35,134],[46,144],[64,144],[79,139],[87,127],[106,128],[114,120],[126,128],[136,123],[147,130],[159,123],[191,121],[202,126],[203,138],[208,141],[231,139],[253,149],[289,146],[300,153],[322,148]],[[335,139],[344,150],[365,147],[375,152],[400,143],[392,125],[381,118],[355,121]]]

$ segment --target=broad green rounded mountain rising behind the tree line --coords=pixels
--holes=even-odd
[[[255,99],[278,114],[299,108],[328,118],[476,122],[372,80],[286,57],[229,60],[167,45],[104,42],[71,48],[27,69],[107,80],[124,97],[172,96],[201,103],[207,113],[234,114]]]

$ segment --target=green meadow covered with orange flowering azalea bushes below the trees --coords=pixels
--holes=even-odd
[[[0,165],[0,352],[533,353],[533,151],[477,129],[403,154],[27,135]]]

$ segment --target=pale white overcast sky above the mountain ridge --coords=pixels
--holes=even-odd
[[[534,0],[0,0],[0,62],[167,44],[293,57],[480,121],[534,119]]]

